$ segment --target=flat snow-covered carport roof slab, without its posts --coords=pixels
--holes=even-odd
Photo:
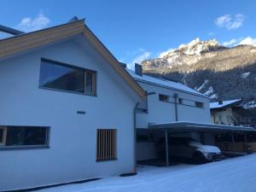
[[[234,132],[234,131],[256,131],[253,127],[205,124],[187,121],[168,122],[160,124],[148,124],[149,129],[158,129],[172,132]]]

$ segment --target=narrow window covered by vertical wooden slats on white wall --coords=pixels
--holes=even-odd
[[[116,130],[97,130],[96,160],[116,160]]]

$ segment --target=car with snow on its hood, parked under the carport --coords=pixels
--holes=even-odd
[[[165,153],[165,143],[160,143],[161,154]],[[224,155],[218,147],[201,144],[191,137],[169,137],[169,156],[189,160],[194,164],[203,164],[214,160],[223,160]]]

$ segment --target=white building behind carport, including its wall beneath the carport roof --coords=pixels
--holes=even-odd
[[[207,96],[203,96],[184,84],[145,75],[139,65],[135,66],[135,72],[130,69],[126,70],[148,95],[146,101],[141,102],[137,107],[137,160],[158,158],[157,143],[163,137],[163,132],[161,129],[152,131],[150,125],[211,123]],[[179,130],[180,127],[176,127]],[[211,133],[201,135],[198,131],[183,131],[182,128],[172,136],[194,137],[206,143],[214,143]]]

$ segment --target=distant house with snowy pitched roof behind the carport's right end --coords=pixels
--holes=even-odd
[[[238,125],[238,113],[234,113],[234,108],[241,108],[241,99],[230,101],[211,102],[211,119],[214,124]]]

